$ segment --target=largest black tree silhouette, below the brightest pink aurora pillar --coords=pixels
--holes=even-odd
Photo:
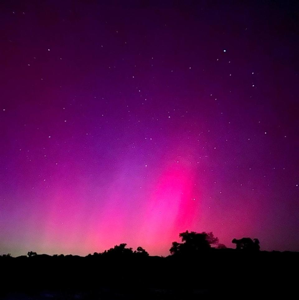
[[[214,237],[212,232],[197,233],[194,231],[185,231],[179,234],[182,238],[182,243],[173,242],[169,249],[173,254],[198,254],[202,251],[207,251],[211,245],[218,244],[218,238]]]

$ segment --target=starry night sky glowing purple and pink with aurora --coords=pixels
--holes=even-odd
[[[0,254],[299,250],[295,1],[1,1]]]

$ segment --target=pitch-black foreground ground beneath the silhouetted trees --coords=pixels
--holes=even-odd
[[[0,257],[0,298],[289,298],[297,293],[298,259],[298,252],[233,249],[197,257]]]

